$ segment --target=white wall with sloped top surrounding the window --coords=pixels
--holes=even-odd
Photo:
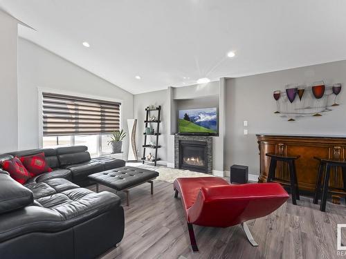
[[[114,71],[116,73],[116,71]],[[19,38],[18,129],[19,150],[39,147],[38,89],[120,100],[122,128],[133,117],[133,95],[72,64],[53,52]],[[17,102],[16,102],[17,104]],[[128,138],[124,143],[127,158]]]

